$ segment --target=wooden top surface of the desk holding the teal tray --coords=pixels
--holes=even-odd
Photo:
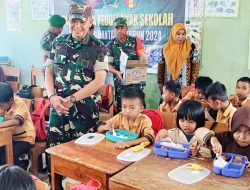
[[[46,149],[46,152],[79,165],[113,175],[132,162],[119,161],[116,156],[123,150],[114,147],[114,143],[106,139],[96,145],[78,145],[74,141]]]

